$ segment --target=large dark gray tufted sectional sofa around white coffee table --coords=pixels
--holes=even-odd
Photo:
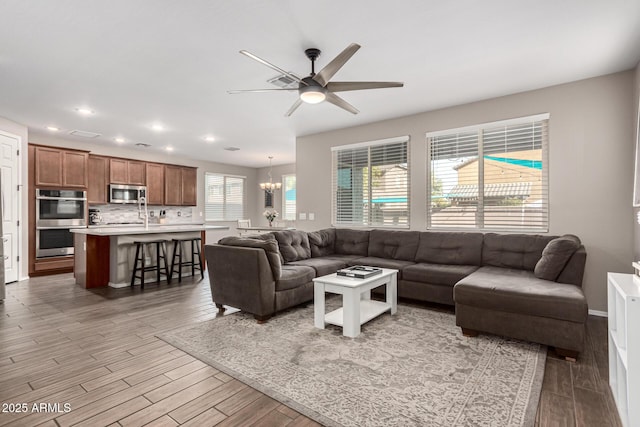
[[[225,237],[205,247],[212,298],[259,321],[313,300],[315,277],[351,265],[398,270],[398,296],[455,305],[465,335],[582,351],[586,261],[575,236],[329,228]]]

